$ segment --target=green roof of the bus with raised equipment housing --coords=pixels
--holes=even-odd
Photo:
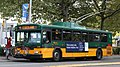
[[[18,25],[16,27],[19,27],[19,26],[40,26],[41,28],[59,28],[59,29],[68,29],[68,30],[82,30],[82,31],[91,31],[91,32],[101,32],[101,33],[111,33],[111,32],[108,32],[108,31],[103,31],[103,30],[95,30],[95,29],[87,29],[83,26],[80,26],[76,23],[73,23],[73,22],[55,22],[51,25],[46,25],[46,24],[21,24],[21,25]]]

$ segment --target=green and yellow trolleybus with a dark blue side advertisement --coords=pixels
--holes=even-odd
[[[15,58],[42,59],[112,55],[112,33],[81,27],[70,22],[52,25],[21,24],[15,27]]]

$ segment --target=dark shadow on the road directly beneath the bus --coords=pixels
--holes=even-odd
[[[104,59],[102,59],[104,60]],[[41,60],[28,60],[28,59],[12,59],[9,60],[10,62],[25,62],[25,63],[49,63],[49,62],[54,62],[52,61],[52,59],[41,59]],[[91,58],[67,58],[67,59],[62,59],[59,62],[73,62],[73,61],[100,61],[100,60],[95,60],[95,59],[91,59]]]

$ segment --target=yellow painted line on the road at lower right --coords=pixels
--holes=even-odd
[[[77,66],[100,66],[100,65],[115,65],[120,64],[120,62],[109,62],[109,63],[88,63],[88,64],[67,64],[67,65],[56,65],[48,67],[77,67]]]

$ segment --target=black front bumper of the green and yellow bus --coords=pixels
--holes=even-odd
[[[16,54],[15,58],[25,58],[25,59],[40,59],[42,58],[42,54]]]

